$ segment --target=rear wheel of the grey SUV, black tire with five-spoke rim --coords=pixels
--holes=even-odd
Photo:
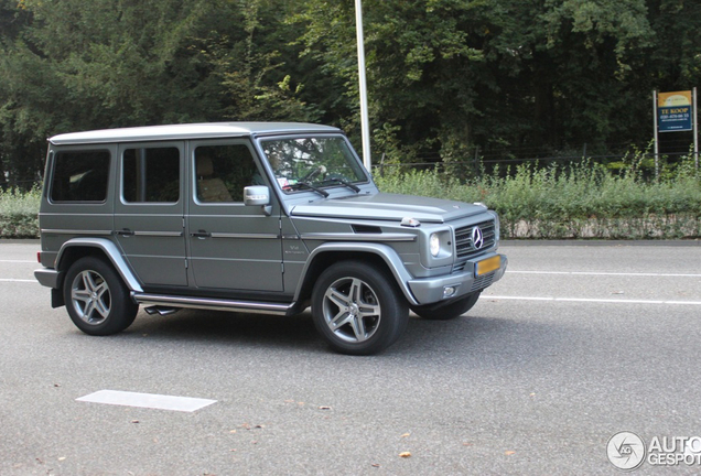
[[[95,257],[73,263],[63,296],[73,323],[89,335],[117,334],[133,323],[139,311],[115,269]]]

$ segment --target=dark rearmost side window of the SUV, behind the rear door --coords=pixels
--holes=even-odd
[[[109,151],[106,150],[56,153],[51,201],[105,202],[109,160]]]

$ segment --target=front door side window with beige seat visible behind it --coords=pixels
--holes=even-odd
[[[195,149],[197,202],[242,203],[244,187],[262,185],[262,176],[244,144],[199,145]]]

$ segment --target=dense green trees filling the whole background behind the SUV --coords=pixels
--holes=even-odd
[[[364,1],[375,160],[645,143],[701,86],[698,0]],[[359,136],[353,0],[0,0],[0,182],[45,139],[308,120]]]

